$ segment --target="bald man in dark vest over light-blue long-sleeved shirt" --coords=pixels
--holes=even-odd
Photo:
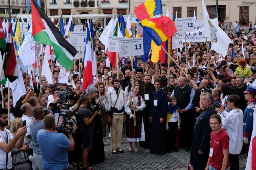
[[[192,100],[195,95],[195,90],[186,84],[186,78],[180,76],[178,78],[177,86],[174,88],[172,94],[177,99],[177,105],[180,106],[180,131],[179,131],[179,146],[186,147],[186,151],[191,148],[192,132],[195,119]]]

